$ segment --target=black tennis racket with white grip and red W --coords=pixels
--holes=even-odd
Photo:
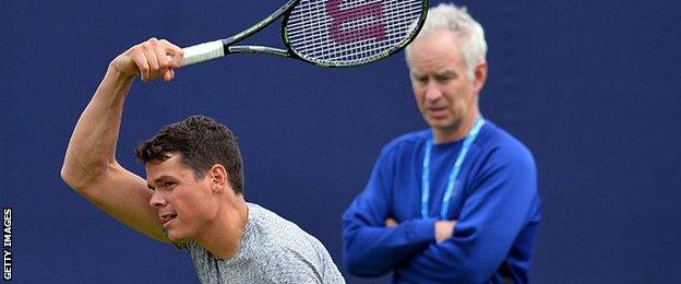
[[[402,50],[427,13],[428,0],[290,0],[239,34],[183,48],[182,66],[229,54],[274,55],[321,67],[367,64]],[[235,45],[282,16],[286,49]]]

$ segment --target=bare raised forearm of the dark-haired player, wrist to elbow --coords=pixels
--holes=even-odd
[[[109,67],[81,115],[61,169],[62,178],[73,189],[83,189],[117,165],[115,156],[122,109],[133,79]]]

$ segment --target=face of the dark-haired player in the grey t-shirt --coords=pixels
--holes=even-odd
[[[180,162],[179,155],[145,165],[147,182],[154,188],[150,205],[174,241],[195,239],[217,213],[211,179],[196,180],[194,171]]]

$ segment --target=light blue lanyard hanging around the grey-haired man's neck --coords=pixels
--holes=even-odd
[[[452,196],[454,194],[454,184],[456,182],[456,178],[458,178],[461,166],[464,163],[464,158],[466,157],[466,153],[468,153],[470,144],[478,137],[482,125],[485,125],[485,119],[478,117],[475,126],[470,129],[470,132],[466,137],[466,140],[464,140],[464,144],[458,152],[458,156],[456,157],[456,162],[454,163],[454,167],[452,168],[450,178],[447,179],[446,191],[442,198],[442,210],[440,211],[441,220],[446,220],[446,215],[450,210],[450,200],[452,200]],[[428,200],[430,199],[430,152],[432,151],[432,145],[433,141],[431,138],[426,143],[426,153],[423,154],[423,171],[421,173],[421,216],[423,218],[427,218],[430,215],[428,210]]]

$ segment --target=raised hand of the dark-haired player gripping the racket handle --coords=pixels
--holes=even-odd
[[[144,82],[163,78],[169,82],[182,63],[182,49],[166,39],[150,38],[119,55],[109,67],[124,78],[140,74]]]

